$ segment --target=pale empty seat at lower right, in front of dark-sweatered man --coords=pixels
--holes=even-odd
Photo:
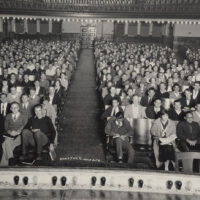
[[[200,152],[176,152],[176,171],[179,171],[179,161],[181,160],[183,163],[183,171],[193,172],[193,161],[195,159],[200,160]]]

